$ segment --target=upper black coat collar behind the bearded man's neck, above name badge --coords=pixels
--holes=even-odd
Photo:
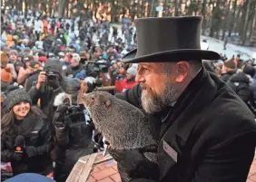
[[[215,82],[203,67],[202,71],[182,92],[164,121],[168,122],[167,124],[170,126],[173,123],[176,135],[186,141],[192,128],[201,119],[204,110],[211,104],[216,92]]]

